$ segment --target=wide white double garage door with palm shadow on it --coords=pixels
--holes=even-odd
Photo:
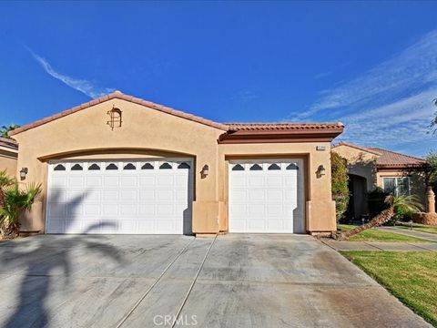
[[[191,233],[192,162],[49,164],[46,233]]]

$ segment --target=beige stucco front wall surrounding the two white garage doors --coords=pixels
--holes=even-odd
[[[123,124],[112,131],[107,126],[107,111],[113,105],[123,111]],[[23,226],[29,231],[44,229],[50,159],[192,158],[193,231],[215,233],[228,230],[228,157],[298,156],[306,159],[308,166],[307,229],[335,230],[335,206],[330,198],[330,143],[219,145],[217,140],[222,133],[219,128],[117,98],[18,133],[14,136],[20,146],[17,167],[28,168],[25,182],[43,184],[42,200],[23,219]],[[324,145],[327,150],[316,151],[316,145]],[[209,174],[201,179],[200,170],[205,164]],[[315,172],[320,164],[327,174],[317,178]]]

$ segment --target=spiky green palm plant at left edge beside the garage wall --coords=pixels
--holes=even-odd
[[[0,223],[5,227],[7,235],[17,235],[19,231],[18,217],[23,210],[30,210],[36,196],[41,192],[41,185],[29,183],[20,189],[18,182],[3,189],[4,204],[0,208]]]

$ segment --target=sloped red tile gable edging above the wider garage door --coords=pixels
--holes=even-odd
[[[225,131],[228,130],[228,126],[226,126],[224,124],[213,122],[212,120],[209,120],[209,119],[206,119],[206,118],[200,118],[198,116],[195,116],[195,115],[192,115],[192,114],[188,114],[188,113],[185,113],[185,112],[180,111],[180,110],[176,110],[176,109],[173,109],[173,108],[168,108],[166,106],[158,105],[158,104],[155,104],[153,102],[150,102],[150,101],[147,101],[147,100],[144,100],[144,99],[141,99],[141,98],[137,98],[137,97],[133,97],[133,96],[128,96],[128,95],[125,95],[125,94],[121,93],[120,91],[115,91],[115,92],[113,92],[113,93],[111,93],[111,94],[109,94],[107,96],[98,97],[97,99],[93,99],[91,101],[88,101],[87,103],[82,104],[80,106],[76,106],[75,108],[67,109],[67,110],[65,110],[63,112],[60,112],[60,113],[55,114],[55,115],[52,115],[51,117],[37,120],[36,122],[27,124],[27,125],[25,125],[25,126],[23,126],[21,128],[15,128],[15,130],[9,132],[9,136],[13,136],[13,135],[15,135],[17,133],[20,133],[20,132],[23,132],[25,130],[28,130],[29,128],[39,127],[39,126],[41,126],[43,124],[46,124],[48,122],[51,122],[51,121],[57,119],[57,118],[63,118],[65,116],[67,116],[67,115],[76,113],[79,110],[82,110],[82,109],[85,109],[85,108],[89,108],[91,106],[97,105],[99,103],[103,103],[103,102],[105,102],[107,100],[111,100],[111,99],[114,99],[114,98],[123,99],[123,100],[130,101],[132,103],[135,103],[135,104],[147,106],[148,108],[153,108],[153,109],[159,110],[161,112],[177,116],[179,118],[186,118],[186,119],[192,120],[194,122],[198,122],[200,124],[207,125],[209,127],[219,128],[219,129],[222,129],[222,130],[225,130]]]

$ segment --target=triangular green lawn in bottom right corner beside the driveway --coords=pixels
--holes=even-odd
[[[340,253],[380,282],[415,313],[437,326],[436,252],[340,251]]]

